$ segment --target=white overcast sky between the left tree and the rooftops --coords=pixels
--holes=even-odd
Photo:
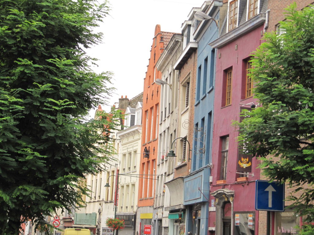
[[[110,15],[100,30],[103,43],[87,53],[98,58],[95,72],[112,71],[116,95],[110,105],[123,95],[131,99],[143,91],[150,49],[156,24],[161,31],[181,33],[181,24],[193,7],[201,7],[204,0],[111,0]],[[108,111],[108,107],[103,107]],[[95,110],[90,112],[93,117]]]

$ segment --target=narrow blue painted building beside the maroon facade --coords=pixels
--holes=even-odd
[[[219,4],[205,1],[194,14],[193,39],[198,42],[194,104],[194,138],[191,173],[184,178],[184,202],[187,209],[186,234],[208,234],[209,178],[211,173],[212,123],[214,109],[215,49],[208,43],[217,39]],[[201,20],[205,13],[213,19]],[[207,17],[205,17],[207,18]],[[192,22],[193,24],[193,22]]]

